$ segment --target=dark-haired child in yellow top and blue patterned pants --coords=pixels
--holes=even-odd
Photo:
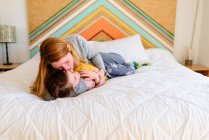
[[[114,78],[118,76],[125,76],[135,73],[133,66],[125,63],[125,60],[118,54],[115,53],[100,53],[105,64],[106,75],[108,78]],[[83,85],[82,87],[77,87],[78,81],[80,80],[80,73],[85,73],[84,70],[98,72],[99,69],[88,63],[80,63],[79,67],[75,69],[77,72],[64,72],[64,71],[55,71],[52,73],[46,82],[46,89],[48,93],[54,98],[62,97],[75,97],[87,90],[87,87]],[[99,77],[95,73],[92,77],[93,79],[85,79],[94,82],[96,85],[99,82]],[[84,74],[83,74],[84,75]],[[106,78],[107,79],[107,78]],[[81,88],[75,90],[75,88]],[[80,91],[80,93],[75,93],[74,91]]]

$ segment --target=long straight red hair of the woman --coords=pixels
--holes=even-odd
[[[71,53],[73,56],[74,67],[77,67],[80,64],[81,58],[72,47],[72,44],[59,38],[48,38],[41,43],[39,71],[35,82],[31,86],[31,92],[33,94],[39,97],[46,95],[46,81],[54,69],[51,63],[59,61],[68,53]]]

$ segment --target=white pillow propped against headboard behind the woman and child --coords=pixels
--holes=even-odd
[[[89,41],[89,44],[98,52],[120,54],[127,63],[133,61],[138,63],[149,62],[139,34],[106,42]]]

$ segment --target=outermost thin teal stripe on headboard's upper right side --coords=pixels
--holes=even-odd
[[[156,23],[155,21],[153,21],[150,17],[148,17],[147,15],[143,14],[143,12],[141,10],[138,10],[137,8],[135,8],[135,6],[133,6],[133,4],[128,3],[126,0],[123,0],[127,5],[129,5],[132,9],[134,9],[138,14],[140,14],[141,16],[143,16],[146,20],[148,20],[152,25],[154,25],[158,30],[160,30],[161,32],[163,32],[165,35],[167,35],[170,39],[174,40],[174,36],[166,31],[164,28],[162,28],[161,26],[159,26],[158,23]]]

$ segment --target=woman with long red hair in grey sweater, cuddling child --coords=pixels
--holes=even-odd
[[[56,70],[65,70],[73,72],[73,69],[79,66],[80,62],[90,61],[99,68],[99,87],[105,83],[105,66],[99,53],[88,46],[88,42],[79,35],[71,35],[64,40],[59,38],[48,38],[40,46],[41,61],[39,72],[35,82],[31,86],[31,92],[39,97],[46,97],[46,79],[50,73]],[[81,77],[93,79],[95,73],[83,71]],[[81,92],[82,85],[91,89],[94,85],[91,80],[80,80],[76,87],[77,92]]]

